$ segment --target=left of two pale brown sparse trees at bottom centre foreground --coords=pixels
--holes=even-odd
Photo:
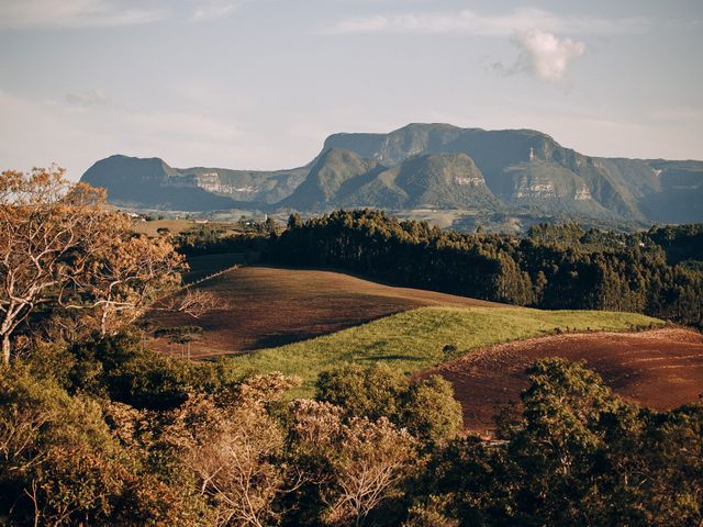
[[[299,482],[287,480],[284,436],[266,403],[297,384],[280,373],[248,379],[220,404],[193,395],[177,410],[168,436],[217,509],[217,525],[260,527],[277,517],[274,500]]]

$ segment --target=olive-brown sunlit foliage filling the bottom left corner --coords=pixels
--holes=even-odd
[[[97,402],[19,363],[0,371],[0,489],[10,525],[193,525],[201,516],[194,493],[142,472]]]

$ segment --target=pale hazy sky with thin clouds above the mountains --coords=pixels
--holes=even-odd
[[[0,169],[291,168],[411,122],[703,159],[702,51],[701,0],[0,0]]]

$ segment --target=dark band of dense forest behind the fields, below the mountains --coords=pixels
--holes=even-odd
[[[703,227],[648,233],[536,225],[525,237],[442,231],[381,211],[290,217],[272,262],[542,309],[632,311],[701,327]]]

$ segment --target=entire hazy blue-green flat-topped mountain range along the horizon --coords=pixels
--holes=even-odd
[[[81,181],[105,188],[115,205],[191,212],[369,206],[703,222],[703,161],[591,157],[542,132],[448,124],[335,134],[315,159],[288,170],[179,169],[116,155]]]

